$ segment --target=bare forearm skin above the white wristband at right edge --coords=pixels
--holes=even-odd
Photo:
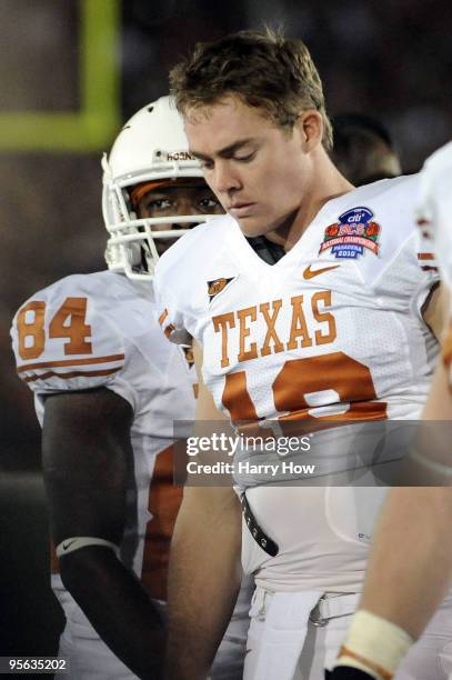
[[[452,580],[452,489],[391,490],[371,551],[361,609],[416,639]]]

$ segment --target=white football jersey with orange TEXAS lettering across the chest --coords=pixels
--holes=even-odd
[[[229,216],[161,258],[163,330],[200,343],[205,384],[233,421],[309,419],[319,429],[419,417],[438,352],[422,308],[438,274],[418,248],[418,181],[382,180],[328,201],[273,266]],[[344,430],[321,430],[320,442],[331,447]],[[361,588],[384,490],[239,484],[280,548],[270,557],[244,529],[244,568],[258,586]]]

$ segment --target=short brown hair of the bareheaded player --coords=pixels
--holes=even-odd
[[[300,113],[315,109],[323,119],[322,143],[333,146],[322,81],[307,46],[281,32],[240,31],[215,42],[198,43],[191,57],[170,73],[179,111],[211,106],[235,94],[259,107],[279,127],[292,129]]]

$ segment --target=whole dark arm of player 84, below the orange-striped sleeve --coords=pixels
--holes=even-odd
[[[155,679],[162,622],[113,549],[122,540],[127,479],[133,474],[131,422],[129,402],[104,388],[48,397],[43,474],[64,587],[114,654],[139,678]]]

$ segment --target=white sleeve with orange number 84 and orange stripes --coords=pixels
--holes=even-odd
[[[134,409],[137,394],[128,380],[133,348],[107,301],[88,288],[69,278],[19,309],[11,328],[19,378],[38,401],[57,392],[106,387]]]

